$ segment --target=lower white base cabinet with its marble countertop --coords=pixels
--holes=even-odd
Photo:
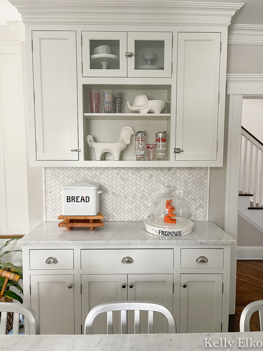
[[[165,305],[175,316],[177,332],[228,330],[235,240],[214,223],[195,222],[193,233],[179,238],[151,235],[142,222],[107,222],[96,228],[97,234],[57,226],[42,223],[18,241],[24,303],[38,314],[41,333],[83,333],[94,306],[134,300]],[[126,257],[133,263],[123,263]],[[106,332],[105,318],[96,317],[94,333]],[[142,312],[141,333],[146,332],[144,322],[147,313]],[[168,332],[158,313],[154,331]],[[119,312],[114,313],[114,332],[120,332]],[[134,333],[133,312],[128,313],[128,333]]]

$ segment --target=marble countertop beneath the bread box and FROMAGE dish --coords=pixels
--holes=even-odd
[[[68,231],[58,222],[42,222],[18,245],[132,245],[132,244],[235,244],[236,240],[213,222],[195,221],[193,232],[182,237],[162,237],[146,232],[142,221],[105,221],[93,231],[75,227]]]

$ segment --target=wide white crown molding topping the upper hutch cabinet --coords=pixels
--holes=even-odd
[[[160,0],[10,0],[25,24],[148,24],[229,26],[244,5]]]

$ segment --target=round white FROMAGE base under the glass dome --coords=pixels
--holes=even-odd
[[[182,226],[174,226],[172,223],[166,223],[166,227],[154,225],[153,223],[151,223],[149,217],[144,219],[143,223],[145,226],[145,230],[148,233],[160,235],[163,237],[181,237],[184,235],[188,235],[193,231],[194,226],[194,222],[190,219],[187,219],[187,223]]]

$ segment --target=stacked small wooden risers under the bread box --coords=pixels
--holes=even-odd
[[[104,216],[99,212],[97,216],[62,216],[58,219],[63,219],[59,223],[59,227],[66,227],[67,230],[71,230],[73,227],[89,227],[90,230],[93,230],[94,227],[103,227],[104,223],[101,219],[104,219]]]

